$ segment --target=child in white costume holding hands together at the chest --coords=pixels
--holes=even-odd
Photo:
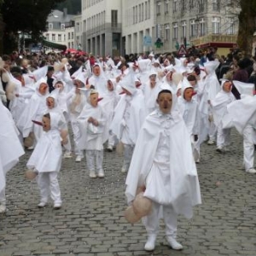
[[[88,103],[80,113],[79,129],[81,138],[79,148],[85,149],[87,168],[90,177],[104,177],[103,143],[108,139],[108,129],[106,129],[106,114],[98,104],[98,92],[94,89],[86,91],[89,96]],[[96,169],[95,169],[96,166]]]

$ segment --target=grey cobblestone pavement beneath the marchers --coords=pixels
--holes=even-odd
[[[203,204],[193,219],[179,218],[183,251],[167,247],[164,224],[153,253],[143,251],[142,223],[124,218],[125,174],[115,152],[104,154],[105,178],[90,179],[85,160],[63,160],[62,208],[38,209],[38,186],[24,178],[29,152],[7,177],[6,214],[0,215],[0,255],[256,255],[256,175],[242,168],[242,141],[230,152],[203,144],[198,173]]]

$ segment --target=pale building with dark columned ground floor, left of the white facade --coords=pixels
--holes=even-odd
[[[121,0],[82,0],[83,49],[93,55],[120,55]]]

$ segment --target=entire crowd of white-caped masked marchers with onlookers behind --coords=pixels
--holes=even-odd
[[[0,60],[0,212],[6,211],[5,176],[32,150],[27,173],[37,179],[38,207],[49,197],[61,207],[61,160],[86,160],[90,178],[105,176],[104,147],[123,146],[128,205],[137,189],[152,201],[144,216],[145,250],[154,250],[159,218],[177,242],[177,215],[192,217],[201,204],[196,164],[201,143],[229,150],[230,130],[243,136],[244,166],[253,168],[256,143],[256,65],[214,49],[189,57],[30,55]],[[70,125],[69,125],[70,124]],[[72,129],[69,131],[68,127]],[[73,139],[73,142],[71,141]]]

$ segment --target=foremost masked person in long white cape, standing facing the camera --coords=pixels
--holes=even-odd
[[[201,204],[190,135],[175,110],[176,101],[170,89],[160,90],[159,109],[148,115],[139,132],[125,182],[128,204],[134,200],[137,188],[143,188],[143,195],[152,201],[152,210],[143,219],[148,233],[144,247],[147,251],[154,250],[160,218],[165,220],[169,245],[183,249],[176,240],[177,215],[192,218],[193,207]]]

